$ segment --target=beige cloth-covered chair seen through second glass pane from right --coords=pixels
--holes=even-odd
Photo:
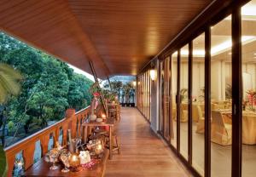
[[[211,140],[222,146],[231,145],[232,125],[224,123],[220,111],[212,111]]]

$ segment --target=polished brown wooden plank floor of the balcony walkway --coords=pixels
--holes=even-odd
[[[122,108],[117,134],[121,155],[108,161],[105,177],[192,176],[136,108]]]

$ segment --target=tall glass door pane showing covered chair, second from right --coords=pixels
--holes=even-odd
[[[231,16],[211,27],[212,177],[231,176]]]

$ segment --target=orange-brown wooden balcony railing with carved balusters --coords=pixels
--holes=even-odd
[[[47,128],[44,128],[38,131],[35,134],[32,134],[26,139],[20,140],[19,142],[15,143],[12,146],[9,146],[4,149],[6,152],[6,157],[8,161],[8,176],[12,176],[13,168],[15,165],[15,156],[20,151],[22,151],[22,157],[24,159],[24,169],[31,167],[34,163],[34,151],[35,151],[35,144],[38,140],[40,140],[42,154],[41,157],[44,157],[44,154],[48,151],[48,144],[49,144],[49,136],[50,134],[53,135],[54,146],[55,142],[59,140],[60,131],[62,129],[62,146],[67,144],[67,129],[71,129],[72,137],[82,137],[82,128],[81,123],[84,121],[86,117],[89,116],[90,113],[90,106],[84,108],[81,111],[75,112],[73,109],[68,109],[66,111],[66,117],[64,117],[61,121],[50,125]],[[84,139],[83,139],[84,140]]]

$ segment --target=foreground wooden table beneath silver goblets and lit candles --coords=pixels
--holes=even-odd
[[[28,168],[21,176],[86,176],[86,177],[103,177],[105,174],[106,163],[108,160],[108,149],[105,149],[103,156],[99,163],[96,163],[92,169],[83,168],[79,172],[62,173],[64,168],[62,163],[57,163],[58,169],[49,170],[52,163],[46,163],[44,158],[40,159],[38,163],[34,163],[31,168]]]

